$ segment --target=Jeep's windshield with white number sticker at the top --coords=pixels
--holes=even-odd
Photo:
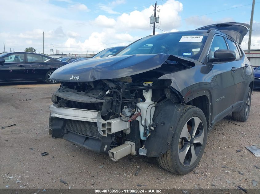
[[[117,54],[171,54],[198,60],[207,39],[205,32],[173,32],[142,38]]]

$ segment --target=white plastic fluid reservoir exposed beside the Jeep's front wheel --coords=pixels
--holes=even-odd
[[[145,102],[137,103],[137,106],[140,107],[141,109],[142,121],[140,116],[138,116],[137,120],[139,121],[140,138],[142,140],[146,140],[147,137],[143,136],[145,128],[142,126],[142,124],[144,126],[146,125],[147,126],[146,128],[149,128],[149,125],[152,123],[153,116],[154,116],[155,103],[152,101],[151,89],[148,92],[146,92],[146,90],[143,90],[143,95],[145,97]],[[149,134],[148,130],[146,132],[147,134]]]

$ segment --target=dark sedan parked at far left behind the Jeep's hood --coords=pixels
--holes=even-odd
[[[3,53],[0,55],[0,82],[46,81],[55,84],[57,81],[50,79],[51,74],[67,63],[36,53]]]

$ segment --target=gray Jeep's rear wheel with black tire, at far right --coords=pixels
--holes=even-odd
[[[234,120],[237,121],[246,121],[249,117],[250,108],[251,108],[251,98],[252,98],[252,91],[251,88],[248,87],[246,99],[242,109],[238,112],[232,112],[232,117]]]

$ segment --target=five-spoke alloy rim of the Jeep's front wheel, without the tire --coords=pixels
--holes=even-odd
[[[194,116],[186,122],[179,139],[178,155],[182,165],[190,166],[196,161],[202,149],[204,132],[199,117]]]

